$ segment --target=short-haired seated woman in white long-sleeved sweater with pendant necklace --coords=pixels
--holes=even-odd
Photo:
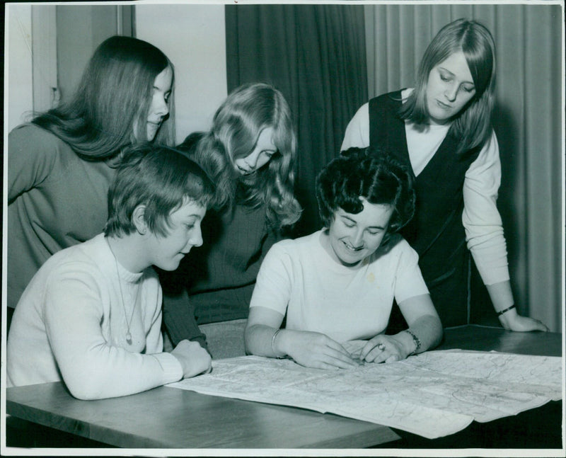
[[[8,335],[8,386],[62,380],[79,399],[125,396],[209,370],[183,341],[163,353],[161,287],[202,244],[214,184],[193,161],[146,144],[125,154],[104,234],[48,259],[22,294]]]

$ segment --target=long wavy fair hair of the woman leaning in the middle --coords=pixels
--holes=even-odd
[[[252,176],[236,174],[234,161],[248,156],[268,127],[273,129],[277,153]],[[301,216],[301,206],[294,197],[296,135],[291,109],[282,93],[264,83],[236,88],[216,110],[211,134],[232,164],[227,174],[238,200],[253,207],[265,204],[267,221],[276,229],[294,224]]]

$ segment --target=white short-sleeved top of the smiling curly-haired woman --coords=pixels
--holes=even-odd
[[[323,230],[280,241],[267,253],[250,307],[284,315],[287,329],[324,333],[337,342],[385,331],[393,299],[428,294],[418,255],[407,241],[378,249],[355,268],[337,263],[320,242]]]

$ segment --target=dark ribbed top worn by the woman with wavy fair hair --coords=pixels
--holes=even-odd
[[[204,343],[197,324],[247,318],[261,262],[281,239],[267,227],[264,206],[243,205],[209,211],[202,236],[178,270],[160,272],[163,321],[174,345],[185,338]]]

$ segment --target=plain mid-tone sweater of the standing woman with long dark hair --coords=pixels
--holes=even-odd
[[[8,136],[7,294],[16,307],[31,278],[57,251],[92,239],[108,216],[115,168],[85,161],[33,124]]]

